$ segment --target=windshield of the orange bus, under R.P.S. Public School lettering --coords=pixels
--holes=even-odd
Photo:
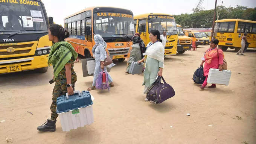
[[[134,35],[133,15],[116,12],[94,13],[94,34],[102,37],[131,37]]]

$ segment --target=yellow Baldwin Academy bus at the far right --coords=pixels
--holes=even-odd
[[[241,49],[241,37],[245,32],[248,33],[247,41],[250,43],[248,47],[256,48],[256,21],[224,19],[215,21],[215,25],[213,39],[219,40],[220,49],[230,48],[238,52]]]

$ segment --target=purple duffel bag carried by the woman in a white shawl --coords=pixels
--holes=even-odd
[[[161,78],[164,83],[161,83]],[[155,103],[162,103],[163,101],[173,97],[175,91],[171,85],[165,82],[163,77],[158,77],[153,85],[148,89],[147,98]]]

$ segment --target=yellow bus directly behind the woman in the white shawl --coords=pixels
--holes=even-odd
[[[136,15],[134,16],[134,23],[136,24],[136,32],[140,33],[140,38],[145,45],[150,42],[149,32],[151,30],[156,29],[160,33],[166,30],[165,55],[176,55],[178,35],[174,16],[159,13]]]

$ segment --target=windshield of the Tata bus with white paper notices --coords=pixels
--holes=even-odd
[[[47,25],[41,3],[30,0],[29,4],[0,3],[0,31],[37,33],[47,32]],[[25,1],[24,1],[25,2]],[[27,31],[26,31],[27,30]]]

